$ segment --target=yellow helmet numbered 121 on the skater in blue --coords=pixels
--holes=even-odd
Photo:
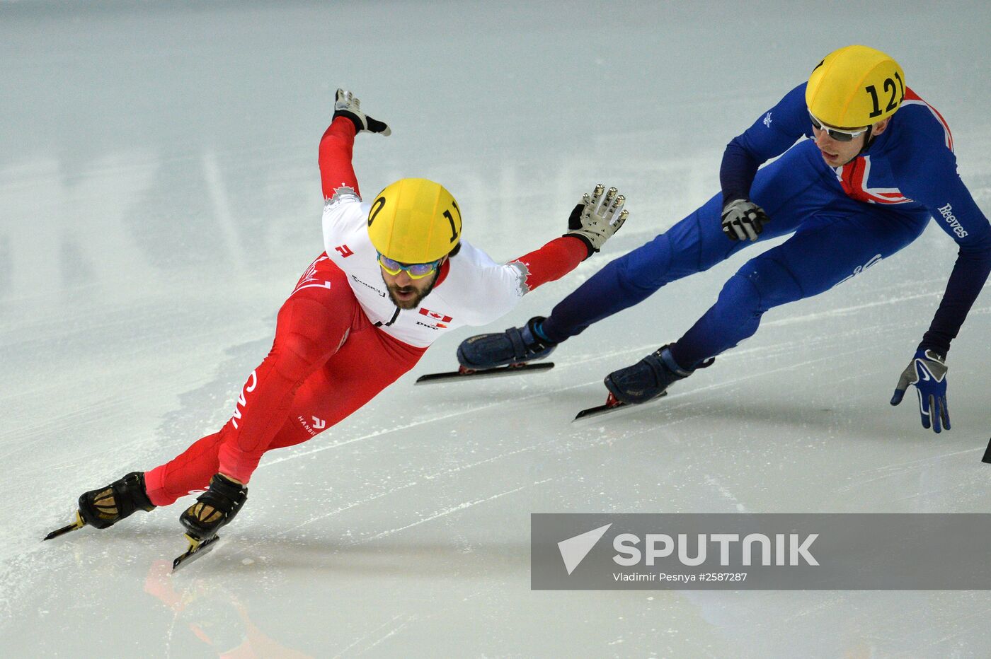
[[[891,55],[866,46],[833,50],[806,87],[806,105],[835,128],[863,128],[895,114],[905,99],[905,71]]]

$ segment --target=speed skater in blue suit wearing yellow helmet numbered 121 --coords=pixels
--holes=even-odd
[[[949,127],[906,86],[898,62],[864,46],[826,55],[807,82],[729,142],[719,183],[705,205],[608,263],[550,316],[472,336],[459,346],[459,361],[480,369],[545,357],[669,282],[752,242],[792,234],[747,261],[681,338],[606,376],[615,400],[644,403],[751,336],[769,309],[829,290],[935,219],[958,255],[891,404],[915,385],[923,426],[949,429],[946,354],[991,272],[991,225],[957,174]]]

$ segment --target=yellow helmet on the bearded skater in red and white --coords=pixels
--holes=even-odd
[[[436,261],[461,239],[461,209],[439,183],[399,179],[372,202],[369,237],[376,249],[401,263]]]

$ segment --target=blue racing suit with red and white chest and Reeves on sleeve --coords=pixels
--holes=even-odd
[[[959,245],[920,344],[945,355],[991,271],[991,225],[956,172],[949,128],[907,89],[887,130],[833,168],[815,141],[802,140],[812,137],[805,88],[803,83],[793,89],[729,142],[719,194],[562,300],[543,323],[547,337],[574,336],[748,246],[723,235],[720,218],[724,200],[747,198],[771,219],[759,240],[794,235],[729,278],[716,304],[672,345],[680,365],[691,369],[751,336],[768,309],[823,293],[894,254],[919,237],[931,218]]]

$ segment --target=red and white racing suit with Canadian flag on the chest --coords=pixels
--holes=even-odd
[[[248,376],[227,424],[145,474],[156,506],[206,489],[218,472],[247,483],[266,451],[306,441],[347,418],[412,368],[442,333],[495,321],[589,254],[581,239],[562,236],[499,264],[462,240],[423,304],[400,311],[369,239],[370,205],[361,200],[351,165],[354,140],[354,124],[345,118],[324,133],[326,251],[279,310],[272,351]]]

